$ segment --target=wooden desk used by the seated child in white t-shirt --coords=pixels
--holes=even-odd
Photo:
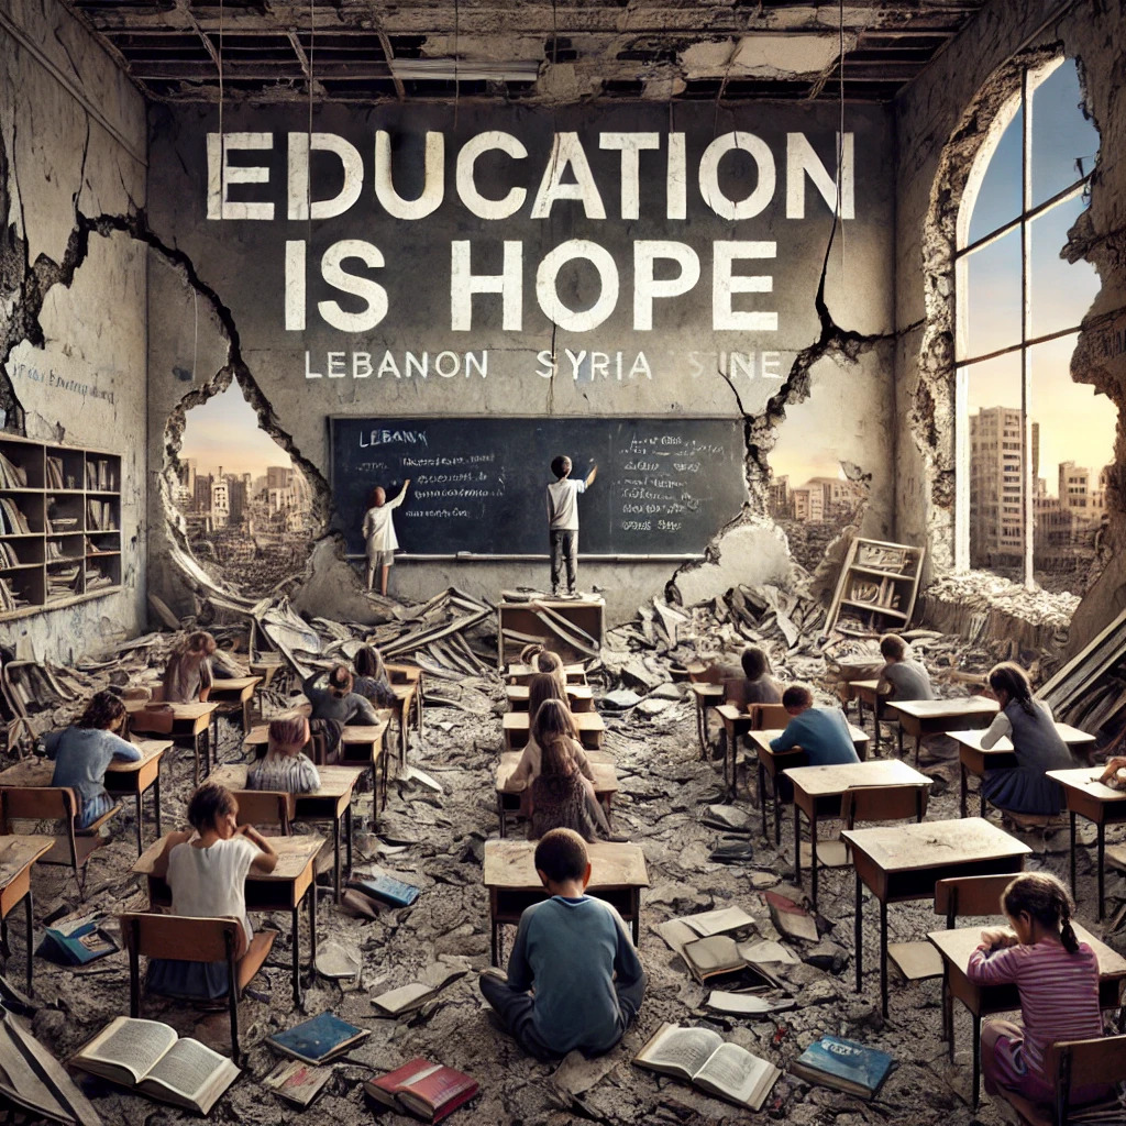
[[[144,850],[133,865],[133,874],[144,876],[149,888],[149,908],[171,908],[172,892],[164,879],[168,861],[159,861],[167,837]],[[277,867],[269,874],[251,872],[247,876],[247,911],[288,911],[293,921],[293,1001],[301,1004],[301,926],[302,900],[309,899],[310,966],[316,974],[316,874],[313,861],[324,843],[315,833],[302,837],[271,837],[278,854]]]

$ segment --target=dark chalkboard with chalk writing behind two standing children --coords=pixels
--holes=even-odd
[[[331,418],[332,493],[349,554],[372,489],[393,498],[399,545],[420,555],[546,555],[552,458],[598,477],[579,498],[583,555],[694,555],[745,495],[734,419]]]

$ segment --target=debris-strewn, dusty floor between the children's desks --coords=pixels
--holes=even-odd
[[[475,971],[489,963],[488,901],[481,884],[483,842],[497,835],[493,769],[500,744],[503,711],[499,683],[475,680],[476,688],[454,687],[447,694],[459,697],[461,707],[427,708],[421,743],[414,742],[411,762],[440,783],[443,793],[417,780],[392,780],[386,811],[381,819],[381,837],[360,831],[367,825],[370,794],[358,799],[356,869],[376,866],[422,886],[415,905],[386,910],[375,921],[361,921],[333,905],[328,883],[322,883],[319,933],[323,945],[336,940],[357,948],[363,955],[358,985],[341,988],[319,980],[305,995],[309,1015],[331,1009],[365,1028],[369,1038],[333,1066],[328,1087],[301,1112],[266,1092],[258,1080],[278,1057],[262,1043],[276,1029],[285,1029],[303,1013],[294,1010],[291,991],[289,917],[256,915],[256,928],[272,926],[282,935],[265,972],[252,983],[263,1000],[248,997],[241,1008],[244,1075],[212,1112],[221,1123],[282,1123],[301,1117],[310,1124],[369,1120],[373,1111],[363,1099],[360,1084],[377,1071],[395,1067],[415,1055],[429,1056],[468,1072],[481,1083],[481,1094],[455,1120],[466,1126],[480,1124],[562,1124],[591,1120],[608,1124],[695,1124],[744,1121],[747,1112],[709,1098],[685,1083],[654,1075],[629,1061],[663,1020],[700,1022],[716,1028],[751,1051],[765,1055],[785,1070],[802,1048],[819,1035],[842,1035],[890,1052],[897,1069],[872,1103],[828,1090],[811,1088],[784,1075],[760,1118],[788,1123],[835,1124],[911,1123],[914,1126],[942,1123],[968,1126],[1000,1121],[983,1100],[975,1115],[967,1106],[971,1081],[971,1021],[955,1006],[957,1053],[954,1064],[939,1038],[939,983],[929,981],[904,985],[892,969],[891,1019],[878,1015],[877,910],[868,901],[865,911],[864,992],[854,992],[851,869],[824,869],[820,899],[826,938],[840,947],[843,964],[837,973],[810,964],[772,966],[792,991],[796,1008],[777,1018],[744,1021],[708,1015],[703,1009],[706,991],[689,977],[679,958],[654,932],[654,926],[676,914],[739,903],[758,922],[762,937],[776,937],[760,895],[752,888],[792,878],[793,823],[786,810],[781,847],[774,835],[762,839],[759,816],[741,777],[739,804],[750,814],[749,839],[754,848],[752,864],[718,865],[708,855],[722,833],[700,823],[709,802],[721,801],[720,762],[699,758],[695,713],[690,700],[654,706],[655,714],[604,713],[607,734],[604,749],[614,752],[622,793],[615,804],[616,828],[627,832],[645,850],[651,886],[643,896],[641,954],[650,976],[640,1025],[614,1052],[601,1060],[568,1067],[555,1076],[554,1067],[525,1057],[490,1021],[476,988]],[[884,753],[888,747],[884,744]],[[164,829],[177,828],[191,785],[191,757],[172,751],[164,774]],[[223,722],[222,758],[241,756],[235,729]],[[957,816],[957,760],[928,758],[922,768],[937,783],[930,819]],[[146,808],[146,814],[149,811]],[[995,816],[995,814],[994,814]],[[143,910],[146,897],[129,869],[136,858],[132,807],[118,819],[114,842],[98,851],[90,864],[88,902],[109,914]],[[305,826],[301,826],[305,828]],[[145,840],[153,839],[151,814],[146,816]],[[1081,830],[1082,832],[1082,830]],[[833,826],[823,826],[823,837]],[[1035,849],[1029,867],[1046,867],[1061,876],[1067,869],[1067,832],[1056,831],[1046,840],[1042,833],[1025,838]],[[1090,835],[1082,838],[1089,840]],[[1111,831],[1111,839],[1117,839]],[[1093,924],[1094,881],[1090,854],[1080,851],[1081,921],[1097,933]],[[390,854],[390,855],[388,855]],[[807,875],[807,873],[806,873]],[[324,876],[322,879],[327,881]],[[807,881],[806,881],[806,886]],[[73,878],[68,869],[38,868],[34,887],[36,917],[60,904],[77,908]],[[1121,894],[1120,877],[1108,877],[1108,914]],[[17,912],[17,915],[19,912]],[[890,909],[892,940],[921,938],[942,926],[931,904],[901,903]],[[309,957],[307,914],[302,913],[302,954]],[[504,933],[510,948],[513,931]],[[19,984],[23,974],[23,926],[9,928],[14,956],[8,973]],[[798,949],[807,954],[808,947]],[[829,951],[830,956],[832,951]],[[840,963],[842,959],[838,958]],[[440,981],[458,967],[473,972],[439,995],[413,1018],[381,1019],[370,997],[412,981]],[[128,1007],[128,973],[124,954],[111,955],[87,969],[71,971],[37,958],[36,1001],[43,1006],[34,1021],[35,1034],[65,1058],[113,1016]],[[173,1024],[181,1034],[196,1035],[220,1049],[227,1049],[225,1011],[200,1013],[146,998],[143,1015]],[[138,1097],[124,1094],[100,1081],[81,1078],[106,1123],[149,1126],[189,1121],[187,1115]],[[196,1119],[198,1120],[198,1119]],[[406,1123],[390,1111],[383,1120]]]

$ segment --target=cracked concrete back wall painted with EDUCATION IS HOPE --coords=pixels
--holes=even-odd
[[[677,577],[694,595],[701,588],[777,580],[785,573],[784,545],[780,549],[775,529],[763,520],[769,453],[783,431],[789,432],[792,443],[820,452],[831,467],[841,461],[859,466],[857,472],[869,482],[869,501],[859,522],[874,534],[890,535],[894,526],[893,443],[887,425],[893,206],[887,115],[870,106],[848,109],[846,129],[852,134],[849,145],[855,146],[855,217],[843,221],[843,239],[834,244],[824,278],[832,211],[823,194],[832,191],[835,172],[837,111],[820,105],[759,104],[717,114],[713,106],[678,106],[672,132],[685,140],[682,173],[674,164],[669,172],[669,120],[668,107],[644,105],[574,106],[547,113],[463,104],[456,119],[450,109],[438,107],[379,107],[369,113],[316,107],[313,129],[330,135],[323,143],[356,154],[352,199],[348,195],[352,181],[346,180],[340,158],[330,153],[314,152],[307,190],[295,159],[306,138],[303,113],[287,107],[227,107],[229,134],[257,134],[229,140],[229,166],[256,166],[261,171],[250,173],[253,182],[235,184],[229,176],[224,204],[215,136],[208,164],[208,135],[217,129],[217,113],[211,107],[154,107],[149,218],[153,242],[163,249],[153,251],[149,286],[149,444],[153,473],[160,476],[150,508],[153,589],[173,605],[186,605],[182,584],[166,566],[170,555],[182,562],[184,539],[176,516],[167,515],[164,498],[185,409],[232,378],[262,425],[309,473],[327,517],[331,508],[327,419],[332,414],[379,419],[696,414],[742,417],[748,422],[743,513],[748,524],[735,538],[720,536],[731,513],[717,517],[718,538],[699,544],[701,553],[707,549],[706,561]],[[376,177],[373,154],[378,131],[385,131],[390,145],[393,190],[405,204],[396,205],[386,177]],[[759,157],[751,160],[747,151],[725,157],[717,186],[708,188],[699,177],[701,157],[717,136],[736,131],[753,134],[738,144],[744,150],[761,146]],[[431,138],[436,163],[430,178],[422,171],[428,132],[440,136],[445,158],[439,164],[438,141]],[[463,145],[485,132],[501,132],[516,141],[503,142],[509,145],[507,154],[485,153],[476,166],[475,184],[485,199],[507,199],[512,189],[526,193],[520,206],[512,197],[512,214],[503,220],[474,214],[474,207],[488,211],[489,204],[466,204],[465,178],[457,173]],[[610,145],[619,142],[608,141],[611,134],[643,135],[645,145],[655,146],[640,153],[640,175],[632,176],[629,161],[613,151]],[[557,151],[553,151],[555,135],[564,145]],[[552,182],[552,168],[568,164],[570,135],[578,138],[590,171],[588,176],[581,159],[571,161],[560,196],[566,196],[578,179],[587,181],[584,200],[560,198],[545,217],[533,217],[533,200]],[[803,148],[806,142],[810,152]],[[248,148],[251,144],[260,148]],[[801,171],[803,157],[815,162],[815,175],[826,170],[821,172],[824,191]],[[776,177],[772,189],[768,168]],[[682,217],[676,203],[681,194]],[[310,195],[314,212],[319,202],[339,198],[340,213],[304,217]],[[388,214],[410,211],[409,202],[420,195],[432,203],[429,214],[417,218]],[[708,195],[715,206],[709,206]],[[733,215],[735,209],[725,207],[718,195],[751,202],[745,214]],[[270,218],[248,217],[248,212],[267,209]],[[348,272],[365,276],[370,302],[342,297],[340,287],[333,288],[322,276],[328,272],[322,270],[322,256],[345,240],[354,240],[350,252],[366,254],[370,263],[382,260],[367,269],[355,259],[346,263]],[[537,289],[539,263],[572,240],[602,248],[620,283],[617,303],[605,318],[595,318],[598,324],[573,323],[582,320],[582,311],[598,307],[605,294],[589,262],[565,267],[558,275],[558,298],[575,316],[553,311],[549,297]],[[635,253],[638,242],[652,240],[661,240],[665,253],[672,252],[668,244],[676,243],[674,252],[698,260],[700,278],[691,287],[685,285],[683,294],[658,297],[649,328],[635,301],[640,276]],[[759,244],[758,252],[768,256],[742,261],[733,272],[768,280],[748,287],[756,292],[735,293],[731,309],[735,314],[776,314],[776,324],[744,322],[724,312],[724,300],[716,297],[722,283],[714,280],[714,260],[732,241]],[[470,248],[474,275],[500,274],[506,252],[522,253],[522,268],[513,258],[504,270],[507,306],[497,293],[466,295],[467,285],[457,280],[454,265],[454,244],[463,242]],[[596,258],[597,248],[590,251]],[[295,265],[302,256],[303,269]],[[674,279],[680,269],[663,262],[655,276]],[[373,283],[382,292],[372,289]],[[384,298],[382,315],[364,316]],[[333,302],[334,309],[325,304]],[[467,312],[459,313],[461,309]],[[349,315],[364,323],[349,323]],[[573,368],[566,349],[588,358]],[[426,351],[432,358],[443,350],[457,356],[488,352],[488,377],[403,375],[405,352]],[[611,374],[600,375],[589,359],[595,351],[610,357],[622,352],[626,372],[635,365],[641,368],[637,357],[644,354],[644,370],[618,379],[611,360]],[[545,352],[557,357],[554,376],[545,372]],[[742,364],[732,361],[732,352],[744,357]],[[345,374],[332,377],[332,367]],[[829,410],[787,410],[806,400],[820,403],[822,397],[831,401]],[[529,473],[539,476],[543,471],[529,466]],[[660,545],[654,544],[653,551]],[[587,587],[595,583],[613,591],[620,616],[628,616],[638,600],[663,593],[673,573],[672,564],[599,564],[587,568],[582,580]],[[397,589],[409,595],[430,593],[449,582],[495,595],[503,586],[543,586],[545,580],[546,563],[419,563],[396,568],[395,574]],[[198,589],[198,582],[189,579],[193,583]],[[320,596],[309,608],[332,613]]]

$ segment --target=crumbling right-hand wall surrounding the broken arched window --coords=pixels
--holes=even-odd
[[[1062,14],[1061,14],[1062,12]],[[969,164],[999,106],[1013,92],[1017,64],[1058,53],[1079,62],[1087,109],[1100,134],[1091,206],[1071,231],[1067,257],[1094,263],[1102,285],[1083,321],[1072,378],[1118,409],[1117,480],[1109,491],[1112,555],[1072,622],[1075,651],[1126,608],[1126,5],[992,5],[896,104],[896,513],[903,535],[930,548],[929,570],[955,560],[954,278],[957,205]]]

